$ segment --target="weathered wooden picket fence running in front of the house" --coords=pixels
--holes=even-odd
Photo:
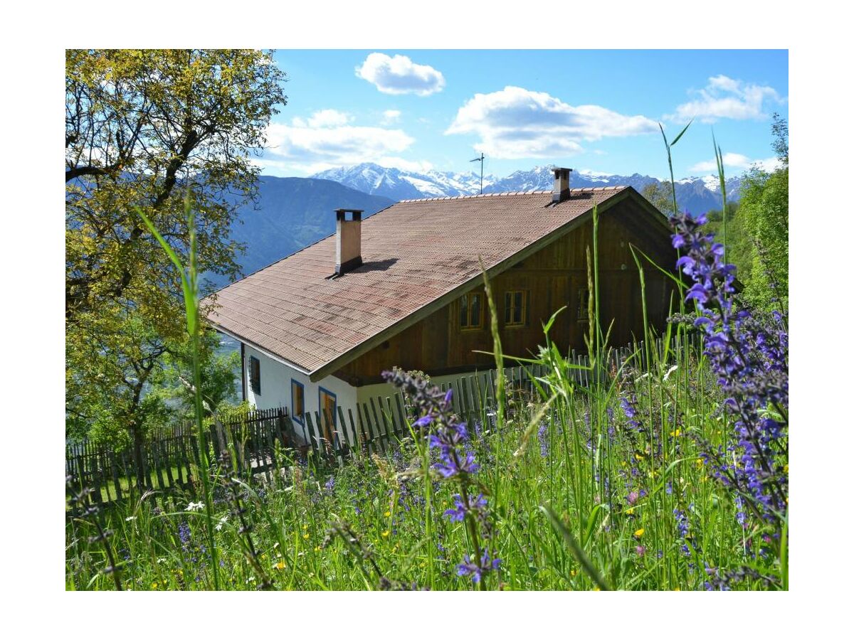
[[[697,340],[686,342],[667,359],[697,346]],[[648,347],[640,342],[613,349],[601,375],[613,375],[629,358],[635,358],[636,367],[645,368],[647,358],[664,359],[664,344],[657,340]],[[594,381],[596,372],[585,354],[570,352],[569,360],[576,365],[570,375],[578,384]],[[541,365],[529,365],[506,368],[504,373],[506,412],[513,416],[536,398],[535,379],[547,371]],[[453,410],[471,428],[493,428],[496,379],[497,370],[489,369],[461,375],[441,387],[443,392],[453,390]],[[290,416],[285,408],[224,414],[207,428],[208,459],[221,462],[227,457],[229,473],[242,474],[247,480],[272,480],[275,474],[286,475],[297,460],[342,466],[353,457],[394,451],[401,439],[411,435],[409,424],[417,418],[401,393],[369,398],[346,409],[338,405],[336,416],[321,416],[319,411]],[[94,489],[91,499],[96,503],[138,497],[141,491],[196,496],[200,446],[192,423],[149,434],[139,455],[134,455],[132,447],[115,451],[86,441],[68,443],[66,474],[73,486]]]

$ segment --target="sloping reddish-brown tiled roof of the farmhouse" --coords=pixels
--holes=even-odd
[[[627,187],[401,201],[361,223],[364,264],[335,270],[335,236],[256,271],[217,294],[214,326],[308,372],[591,211]],[[333,213],[330,212],[330,216]],[[344,357],[344,358],[342,358]]]

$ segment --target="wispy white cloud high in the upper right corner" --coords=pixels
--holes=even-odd
[[[748,84],[724,75],[713,76],[704,89],[695,91],[698,98],[676,107],[665,119],[687,122],[696,118],[711,123],[721,118],[737,120],[765,117],[766,102],[786,102],[775,89],[760,84]]]

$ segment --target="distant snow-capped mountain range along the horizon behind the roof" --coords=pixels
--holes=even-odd
[[[343,166],[319,172],[312,177],[334,180],[352,189],[371,195],[383,195],[395,201],[415,198],[440,198],[453,195],[471,195],[480,191],[480,174],[477,172],[407,172],[401,169],[379,166],[366,162],[356,166]],[[572,172],[570,185],[581,187],[612,187],[629,185],[637,191],[658,178],[642,176],[618,176],[588,171]],[[513,172],[507,177],[492,175],[483,177],[483,193],[502,191],[529,191],[552,189],[554,177],[551,166],[535,166],[529,171]],[[727,180],[727,199],[739,199],[740,178]],[[676,180],[676,200],[679,206],[693,213],[703,213],[721,207],[720,183],[717,176],[686,177]]]

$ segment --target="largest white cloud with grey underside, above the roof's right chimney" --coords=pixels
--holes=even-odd
[[[446,134],[474,133],[474,145],[494,158],[552,158],[577,154],[581,141],[658,131],[641,115],[627,116],[593,104],[573,107],[545,92],[505,87],[477,93],[459,108]]]

